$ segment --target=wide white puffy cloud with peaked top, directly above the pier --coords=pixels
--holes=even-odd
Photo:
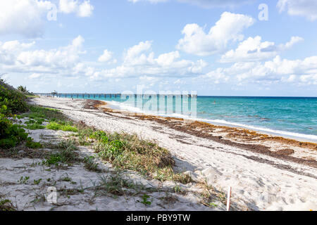
[[[199,74],[206,67],[204,60],[192,62],[180,59],[178,51],[162,53],[157,58],[151,51],[152,41],[141,41],[123,54],[123,63],[116,68],[94,72],[100,77],[178,77]]]

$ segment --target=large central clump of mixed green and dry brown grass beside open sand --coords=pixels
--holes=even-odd
[[[139,139],[136,134],[106,133],[96,131],[90,136],[96,139],[94,150],[99,157],[118,169],[129,169],[159,181],[177,181],[187,184],[190,176],[175,173],[175,162],[168,150],[156,143]]]

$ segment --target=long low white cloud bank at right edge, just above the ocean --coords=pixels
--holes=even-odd
[[[317,56],[304,60],[287,60],[275,56],[265,62],[239,62],[229,68],[217,68],[201,79],[211,82],[248,84],[262,82],[287,82],[293,84],[317,85]]]

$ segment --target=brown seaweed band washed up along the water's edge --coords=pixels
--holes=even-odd
[[[259,132],[256,131],[252,131],[249,129],[240,129],[237,127],[225,127],[225,126],[217,126],[217,125],[213,125],[210,123],[206,123],[206,122],[201,122],[201,121],[197,121],[197,120],[185,120],[182,118],[176,118],[176,117],[161,117],[158,115],[147,115],[144,113],[131,113],[129,111],[124,111],[124,110],[113,110],[112,108],[108,107],[108,103],[106,103],[105,101],[95,101],[95,100],[88,100],[89,102],[92,103],[92,105],[90,105],[89,107],[92,108],[96,108],[96,109],[101,109],[104,110],[104,112],[111,112],[111,113],[118,113],[118,114],[122,114],[122,115],[128,115],[128,116],[132,116],[132,117],[137,117],[137,119],[139,120],[149,120],[149,121],[154,121],[154,122],[159,122],[160,124],[166,125],[167,127],[170,127],[172,129],[175,129],[177,131],[182,131],[185,132],[187,134],[191,134],[194,136],[197,136],[199,138],[204,138],[204,139],[210,139],[212,141],[216,141],[218,143],[222,143],[225,145],[229,145],[232,147],[237,147],[237,148],[242,148],[244,150],[248,150],[251,151],[253,153],[260,153],[262,155],[268,155],[271,156],[273,158],[278,158],[281,160],[287,160],[287,161],[291,161],[291,162],[296,162],[302,165],[309,165],[312,167],[317,168],[317,161],[316,159],[311,160],[311,159],[299,159],[299,158],[293,158],[292,155],[294,153],[294,150],[290,149],[290,148],[285,148],[282,149],[280,151],[272,151],[270,150],[270,147],[268,146],[264,146],[263,142],[259,143],[261,141],[275,141],[278,143],[282,143],[282,144],[289,144],[290,146],[296,146],[296,147],[302,147],[302,148],[308,148],[310,150],[317,150],[317,143],[311,143],[311,142],[303,142],[303,141],[297,141],[294,139],[286,139],[285,137],[280,137],[280,136],[271,136],[268,134],[261,134]],[[106,103],[106,105],[105,105]],[[193,127],[185,127],[182,128],[181,126],[173,126],[171,125],[173,122],[181,122],[184,124],[192,124],[194,125]],[[199,131],[197,131],[196,129],[200,129]],[[210,130],[211,129],[211,130]],[[207,131],[211,131],[213,132],[215,129],[223,129],[225,130],[225,132],[228,132],[228,134],[226,134],[225,136],[230,136],[230,139],[224,139],[223,136],[213,136],[213,134],[205,134],[204,132]],[[223,132],[222,132],[223,134]],[[239,138],[241,139],[241,136],[244,136],[244,140],[242,139],[242,141],[237,141],[236,136],[239,136]],[[247,143],[249,142],[251,139],[251,143]],[[256,139],[255,143],[252,142],[253,139]],[[179,140],[180,141],[180,140]],[[186,142],[184,142],[186,143]],[[258,162],[264,162],[263,160],[258,159]],[[268,164],[270,164],[271,162],[266,162]],[[272,163],[271,163],[272,164]],[[272,164],[273,165],[273,164]],[[280,167],[282,168],[282,167]],[[305,174],[305,173],[302,173]],[[311,176],[311,175],[309,175]],[[317,176],[312,176],[314,178],[317,179]]]

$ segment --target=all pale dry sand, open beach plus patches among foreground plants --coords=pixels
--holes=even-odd
[[[93,105],[87,107],[87,101],[80,99],[72,101],[69,98],[41,97],[32,101],[38,105],[59,109],[71,120],[83,121],[98,129],[136,133],[142,139],[156,141],[173,154],[176,170],[186,171],[196,181],[206,180],[209,185],[216,187],[219,191],[226,192],[228,186],[232,186],[232,203],[237,206],[238,210],[317,210],[317,151],[314,146],[306,148],[301,144],[297,145],[287,141],[283,143],[283,141],[276,141],[273,138],[266,139],[266,141],[246,140],[241,136],[238,139],[238,135],[233,135],[233,137],[231,135],[230,138],[227,135],[228,131],[224,131],[221,127],[213,129],[212,136],[224,134],[225,136],[215,139],[211,138],[211,134],[198,135],[202,132],[199,130],[196,132],[190,129],[184,131],[168,125],[168,122],[173,122],[173,120],[165,123],[144,120],[140,116],[133,116],[129,113],[113,112],[113,110],[105,110],[101,107],[95,108]],[[175,120],[175,122],[178,121]],[[182,123],[192,124],[191,121]],[[279,157],[280,154],[275,154],[279,150],[283,152],[281,155],[286,156]],[[82,149],[82,153],[85,151],[89,152],[89,149]],[[284,154],[286,152],[287,154]],[[7,191],[7,195],[11,197],[20,196],[20,192],[15,188],[15,183],[20,178],[19,176],[23,175],[23,169],[21,170],[24,168],[23,165],[31,162],[26,159],[0,159],[0,181],[2,183],[0,193]],[[111,168],[110,165],[105,165],[105,167]],[[24,171],[24,173],[27,172]],[[54,172],[54,174],[45,172],[40,167],[32,168],[29,173],[35,174],[36,177],[44,176],[44,179],[50,176],[58,179],[58,176],[63,174],[63,172]],[[91,174],[92,172],[87,172],[80,166],[71,168],[67,173],[74,176],[77,183],[80,179],[85,184],[88,184],[88,181],[97,180],[96,174]],[[150,182],[151,185],[163,188],[173,188],[175,185],[168,182],[156,184],[157,181],[147,181],[132,172],[129,172],[128,175],[134,181]],[[11,184],[10,182],[12,186],[3,185],[4,183]],[[25,188],[30,192],[30,187]],[[162,204],[162,194],[166,195],[164,192],[151,193],[153,203],[150,207],[137,203],[132,198],[124,197],[120,197],[119,200],[101,197],[89,205],[92,193],[87,192],[85,200],[82,200],[80,195],[75,195],[74,200],[73,196],[70,196],[73,202],[61,205],[57,210],[225,209],[221,203],[218,203],[218,207],[213,209],[199,205],[199,197],[196,194],[196,191],[199,192],[199,188],[195,184],[188,184],[182,188],[188,193],[178,195],[178,200],[168,206]],[[28,200],[23,203],[26,204]],[[50,207],[48,205],[46,207],[37,206],[35,209],[46,210]]]

